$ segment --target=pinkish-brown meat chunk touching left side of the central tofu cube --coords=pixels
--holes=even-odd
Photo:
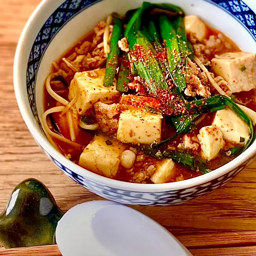
[[[118,119],[120,115],[119,104],[105,104],[97,102],[94,104],[96,119],[102,132],[114,134],[117,132]]]

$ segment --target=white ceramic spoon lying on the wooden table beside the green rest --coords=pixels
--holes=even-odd
[[[59,221],[56,242],[63,256],[191,256],[164,227],[111,201],[71,208]]]

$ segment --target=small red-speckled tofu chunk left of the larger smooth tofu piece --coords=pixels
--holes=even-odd
[[[201,128],[197,137],[200,140],[203,156],[207,160],[217,157],[225,144],[221,130],[215,125]]]

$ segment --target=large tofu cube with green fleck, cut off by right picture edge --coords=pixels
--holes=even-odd
[[[215,74],[230,84],[232,92],[256,88],[255,53],[224,53],[212,59],[211,66]]]

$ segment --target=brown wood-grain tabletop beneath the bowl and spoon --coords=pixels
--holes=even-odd
[[[0,212],[12,189],[34,177],[67,211],[101,197],[80,187],[58,170],[37,146],[20,115],[12,83],[19,35],[40,0],[0,4]],[[134,208],[175,235],[195,256],[256,255],[256,161],[225,187],[197,200],[172,207]],[[0,249],[0,255],[60,255],[56,246]]]

